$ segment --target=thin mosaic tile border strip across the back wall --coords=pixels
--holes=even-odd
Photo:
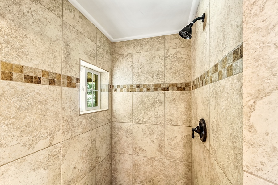
[[[191,91],[191,83],[110,85],[110,92]]]

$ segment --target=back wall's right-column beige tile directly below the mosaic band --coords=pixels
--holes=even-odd
[[[191,126],[191,92],[165,92],[165,125]]]

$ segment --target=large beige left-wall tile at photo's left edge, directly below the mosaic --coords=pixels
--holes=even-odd
[[[61,88],[20,84],[0,81],[0,165],[61,141]]]

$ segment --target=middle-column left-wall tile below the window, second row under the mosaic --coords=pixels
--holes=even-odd
[[[62,184],[76,184],[96,165],[96,130],[62,142]]]

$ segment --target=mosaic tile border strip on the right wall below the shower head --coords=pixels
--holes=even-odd
[[[196,78],[191,89],[203,87],[213,82],[223,80],[243,71],[243,47],[242,44],[218,61],[212,68]]]

